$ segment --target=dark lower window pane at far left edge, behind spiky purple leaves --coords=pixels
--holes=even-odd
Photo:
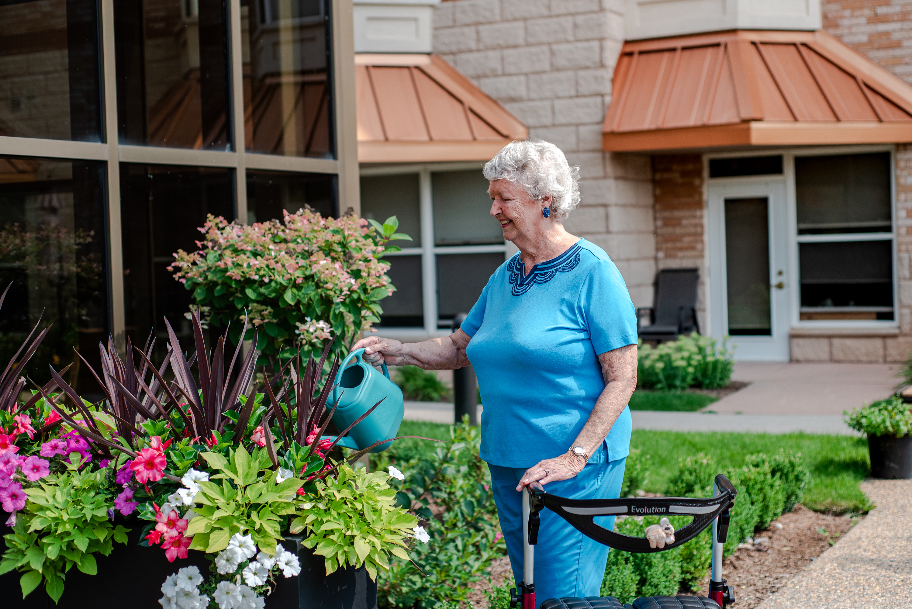
[[[50,379],[79,351],[97,363],[108,335],[102,164],[94,161],[0,158],[0,365],[32,328],[50,331],[21,374]],[[98,392],[86,366],[67,380]]]

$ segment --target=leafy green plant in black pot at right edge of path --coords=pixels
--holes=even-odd
[[[844,414],[846,425],[867,436],[871,476],[912,478],[912,413],[901,397],[882,399]]]

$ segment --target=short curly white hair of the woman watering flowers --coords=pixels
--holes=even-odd
[[[513,140],[483,173],[486,180],[516,182],[534,201],[550,194],[554,220],[564,220],[579,205],[579,166],[571,167],[561,149],[542,139]]]

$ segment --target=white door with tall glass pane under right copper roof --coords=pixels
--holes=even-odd
[[[730,335],[740,360],[789,360],[782,182],[710,185],[713,335]]]

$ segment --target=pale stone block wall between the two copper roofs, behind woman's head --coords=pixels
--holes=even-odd
[[[434,51],[580,166],[583,200],[566,228],[603,247],[645,306],[656,268],[650,161],[602,152],[623,11],[623,0],[451,0],[435,11]]]

